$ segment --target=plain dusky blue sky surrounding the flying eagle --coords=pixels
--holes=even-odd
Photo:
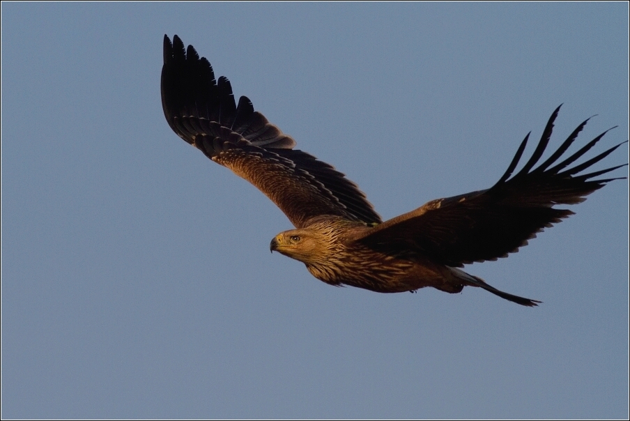
[[[3,418],[628,417],[627,181],[467,266],[540,307],[333,288],[160,102],[178,34],[387,219],[490,187],[560,103],[552,146],[628,139],[627,3],[1,7]]]

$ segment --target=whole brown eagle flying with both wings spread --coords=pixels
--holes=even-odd
[[[305,263],[327,284],[382,293],[425,286],[459,293],[464,286],[477,286],[514,303],[537,305],[540,301],[499,291],[461,268],[517,252],[538,232],[573,214],[555,205],[584,201],[609,181],[625,177],[593,178],[627,165],[582,174],[617,144],[571,167],[606,132],[563,158],[588,120],[539,163],[558,107],[516,174],[529,135],[489,189],[432,200],[383,222],[344,174],[293,149],[295,141],[254,111],[247,97],[236,105],[229,80],[215,79],[208,60],[200,59],[192,45],[186,49],[178,36],[172,43],[164,36],[162,107],[179,137],[258,187],[293,223],[295,229],[271,240],[272,252]]]

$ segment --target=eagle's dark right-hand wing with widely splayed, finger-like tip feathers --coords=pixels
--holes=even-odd
[[[488,190],[429,201],[374,229],[364,231],[355,240],[384,251],[413,250],[447,266],[463,266],[475,261],[496,260],[527,245],[529,238],[545,227],[572,215],[567,209],[553,208],[556,204],[577,204],[585,196],[618,178],[592,180],[618,165],[589,174],[578,174],[606,158],[617,146],[600,153],[583,164],[566,169],[584,155],[606,132],[595,137],[579,151],[556,163],[574,142],[587,121],[578,125],[551,157],[534,169],[548,144],[555,109],[532,157],[515,176],[512,172],[521,159],[529,134],[498,183]],[[626,142],[623,142],[626,143]]]

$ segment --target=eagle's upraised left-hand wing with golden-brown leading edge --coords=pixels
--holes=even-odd
[[[210,63],[178,36],[164,36],[162,107],[174,132],[211,160],[228,167],[267,195],[293,225],[336,215],[367,224],[381,222],[357,185],[308,153],[293,150],[252,102],[234,101],[226,77],[215,80]]]

